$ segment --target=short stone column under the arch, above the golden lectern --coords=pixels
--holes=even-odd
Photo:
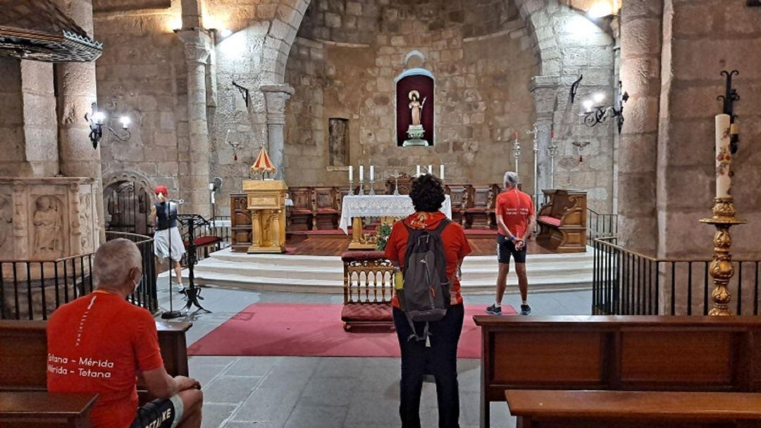
[[[285,101],[294,93],[288,84],[266,84],[260,87],[267,109],[267,151],[275,168],[275,179],[285,180]]]

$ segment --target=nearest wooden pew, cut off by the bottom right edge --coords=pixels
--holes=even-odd
[[[761,394],[518,390],[505,398],[517,428],[761,426]]]

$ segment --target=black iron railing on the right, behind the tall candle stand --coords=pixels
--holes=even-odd
[[[594,239],[592,312],[597,315],[708,315],[711,261],[660,259]],[[734,260],[730,309],[759,315],[759,260]]]

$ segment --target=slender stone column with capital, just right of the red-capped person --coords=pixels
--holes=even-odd
[[[184,19],[184,18],[183,18]],[[198,28],[181,30],[180,40],[185,47],[188,68],[188,134],[190,141],[189,185],[190,210],[209,217],[209,125],[206,122],[206,61],[209,59],[209,35]]]

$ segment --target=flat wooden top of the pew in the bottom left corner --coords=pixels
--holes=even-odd
[[[0,392],[0,417],[76,417],[96,400],[97,394]]]

